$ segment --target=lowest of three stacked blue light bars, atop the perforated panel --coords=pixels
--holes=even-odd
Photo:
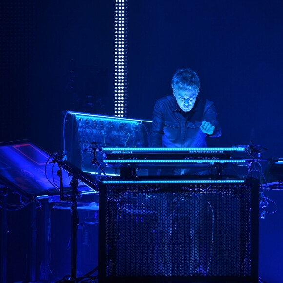
[[[142,180],[142,181],[102,181],[103,184],[195,184],[195,183],[244,183],[244,180]]]

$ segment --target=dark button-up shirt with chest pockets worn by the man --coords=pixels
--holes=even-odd
[[[156,101],[149,133],[150,147],[206,147],[206,137],[200,129],[202,121],[215,126],[210,137],[219,137],[221,127],[212,101],[196,99],[192,110],[184,112],[174,95]]]

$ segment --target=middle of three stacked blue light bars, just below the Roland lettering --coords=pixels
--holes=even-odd
[[[108,159],[104,163],[245,163],[245,159]]]

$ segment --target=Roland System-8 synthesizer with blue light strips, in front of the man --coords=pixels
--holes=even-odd
[[[146,178],[145,176],[147,176],[147,178],[153,178],[153,175],[174,175],[172,169],[174,170],[177,168],[179,170],[183,170],[183,172],[190,172],[189,174],[191,175],[191,177],[193,177],[193,174],[197,174],[195,176],[196,178],[199,178],[198,172],[203,170],[208,170],[207,172],[209,172],[209,174],[215,175],[218,178],[222,178],[223,175],[231,175],[231,173],[232,175],[234,175],[235,168],[233,166],[244,167],[241,169],[241,171],[244,171],[244,175],[247,171],[247,161],[244,158],[244,147],[107,147],[101,148],[101,154],[103,154],[103,163],[106,168],[113,168],[115,172],[120,175],[120,177],[126,178],[136,178],[139,176],[143,176],[142,178]],[[227,171],[227,169],[229,170]],[[161,171],[157,173],[156,170]],[[239,171],[239,168],[237,169],[237,171]],[[202,178],[206,177],[208,176],[202,175]]]

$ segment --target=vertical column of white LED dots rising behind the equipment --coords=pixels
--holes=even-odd
[[[127,0],[115,1],[115,116],[127,116]]]

